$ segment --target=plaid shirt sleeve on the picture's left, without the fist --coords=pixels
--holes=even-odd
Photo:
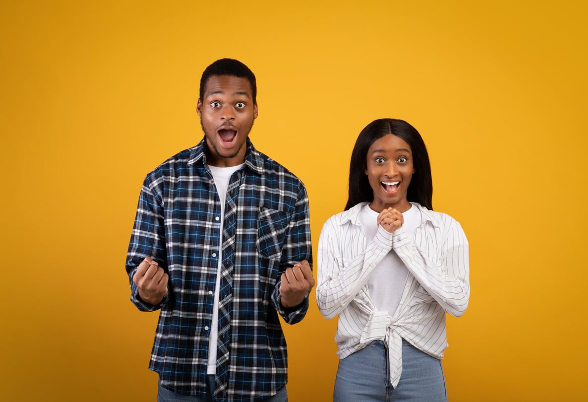
[[[133,275],[137,267],[145,259],[151,257],[160,267],[168,272],[165,252],[165,229],[163,224],[163,205],[161,198],[156,197],[149,177],[143,182],[135,224],[129,242],[126,258],[126,273],[131,284],[131,301],[141,311],[155,311],[168,300],[168,295],[158,304],[149,304],[141,300],[137,286],[133,283]],[[169,294],[169,291],[168,291]]]

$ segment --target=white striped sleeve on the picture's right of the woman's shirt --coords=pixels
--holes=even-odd
[[[437,258],[433,261],[418,245],[407,238],[403,228],[393,234],[393,249],[416,280],[447,313],[460,317],[465,313],[470,297],[469,249],[460,224],[442,215],[442,224],[433,228]],[[438,230],[438,231],[437,231]],[[435,247],[427,245],[429,250]]]

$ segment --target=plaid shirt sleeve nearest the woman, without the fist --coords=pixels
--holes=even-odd
[[[293,308],[284,308],[280,303],[280,284],[282,283],[282,273],[294,264],[306,260],[312,270],[312,243],[310,242],[310,212],[308,204],[308,195],[306,189],[302,187],[296,198],[295,210],[290,220],[290,228],[282,248],[280,257],[280,270],[278,280],[272,293],[272,303],[288,324],[296,324],[302,321],[308,311],[308,295],[304,298],[302,304]]]

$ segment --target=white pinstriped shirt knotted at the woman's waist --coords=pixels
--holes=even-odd
[[[377,229],[367,242],[359,221],[362,202],[326,221],[320,233],[316,301],[328,319],[339,315],[335,341],[345,358],[374,340],[389,348],[390,383],[402,373],[402,338],[436,358],[447,347],[445,313],[459,317],[469,300],[469,254],[466,236],[449,215],[427,210],[413,239],[402,227]],[[368,280],[387,253],[396,253],[409,271],[400,305],[393,313],[377,311]]]

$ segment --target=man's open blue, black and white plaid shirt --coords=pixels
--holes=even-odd
[[[291,172],[247,141],[245,165],[233,173],[220,237],[220,202],[206,165],[205,141],[163,162],[145,178],[129,244],[131,301],[161,308],[149,368],[180,394],[206,393],[217,253],[222,244],[215,397],[259,400],[287,382],[289,324],[308,310],[283,308],[280,275],[302,260],[312,264],[308,196]],[[169,273],[168,295],[145,303],[132,282],[145,257]]]

